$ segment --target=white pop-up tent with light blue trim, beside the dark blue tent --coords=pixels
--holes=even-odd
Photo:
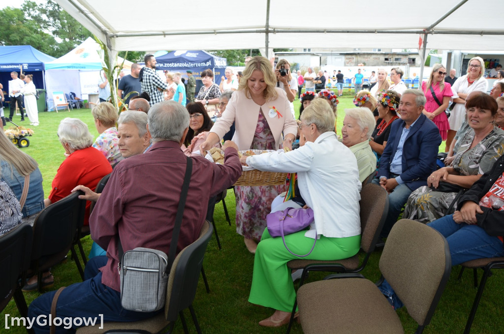
[[[91,37],[60,58],[45,63],[45,82],[47,87],[47,104],[53,106],[52,92],[74,92],[77,96],[98,94],[100,70],[103,63],[99,52],[100,45]],[[121,63],[118,57],[117,62]],[[130,61],[124,61],[123,68],[131,70]]]

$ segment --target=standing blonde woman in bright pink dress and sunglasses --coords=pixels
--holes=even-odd
[[[422,82],[422,90],[427,98],[423,114],[439,128],[439,134],[443,140],[447,139],[448,130],[450,130],[445,110],[448,108],[450,97],[453,95],[452,86],[445,82],[445,76],[446,68],[443,64],[435,64],[429,81],[427,83]]]

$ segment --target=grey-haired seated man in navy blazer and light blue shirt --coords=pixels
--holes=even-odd
[[[411,192],[427,185],[427,177],[436,168],[441,136],[436,125],[422,114],[425,102],[422,91],[404,91],[399,102],[401,119],[391,125],[377,178],[373,180],[389,193],[382,237],[389,235]]]

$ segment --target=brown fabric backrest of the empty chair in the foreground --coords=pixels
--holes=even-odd
[[[410,219],[396,222],[380,258],[383,276],[419,326],[429,324],[451,267],[446,239]]]

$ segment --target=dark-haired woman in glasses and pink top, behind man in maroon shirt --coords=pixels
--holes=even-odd
[[[180,149],[185,155],[194,156],[198,155],[198,153],[195,152],[200,150],[200,145],[207,139],[208,132],[214,125],[214,122],[210,120],[207,109],[205,109],[203,104],[191,102],[185,107],[190,115],[189,130],[187,131],[184,143],[180,146]],[[220,147],[220,143],[214,146]]]

